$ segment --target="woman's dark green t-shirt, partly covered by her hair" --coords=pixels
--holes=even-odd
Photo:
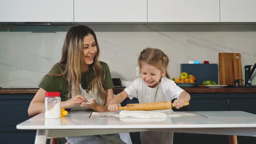
[[[100,62],[104,73],[105,73],[105,80],[103,82],[103,87],[107,89],[111,89],[114,87],[112,78],[110,75],[109,67],[107,63]],[[61,67],[61,66],[60,66]],[[49,73],[51,74],[61,74],[61,67],[53,67],[53,69],[50,70]],[[81,85],[84,89],[88,89],[88,86],[94,79],[93,69],[92,65],[89,65],[89,70],[86,71],[86,73],[82,73],[82,81]],[[63,77],[54,77],[47,75],[42,82],[39,84],[40,88],[43,88],[46,92],[60,92],[61,93],[61,101],[67,100],[67,94],[68,94],[68,81]]]

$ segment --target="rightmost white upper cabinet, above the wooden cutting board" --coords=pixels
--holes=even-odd
[[[256,1],[220,0],[220,22],[256,22]]]

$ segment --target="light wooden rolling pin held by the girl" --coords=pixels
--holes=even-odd
[[[189,102],[185,102],[184,106],[186,105],[189,105]],[[164,101],[156,103],[127,104],[126,106],[119,106],[118,110],[150,111],[172,109],[172,107],[175,107],[175,105],[172,104],[172,101]]]

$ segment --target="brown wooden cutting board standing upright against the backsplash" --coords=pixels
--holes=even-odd
[[[242,79],[240,53],[219,53],[219,85],[235,85]]]

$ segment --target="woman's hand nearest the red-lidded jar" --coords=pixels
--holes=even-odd
[[[83,101],[87,101],[87,99],[83,95],[79,94],[67,101],[62,101],[61,107],[63,109],[70,109],[74,105],[82,104]]]

